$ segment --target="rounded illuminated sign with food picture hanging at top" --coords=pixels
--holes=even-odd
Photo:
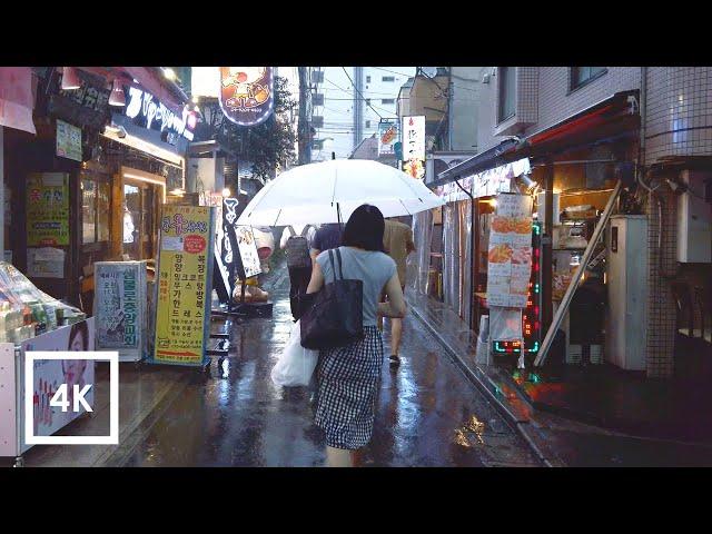
[[[220,108],[238,126],[255,126],[271,115],[274,73],[271,67],[220,67]]]

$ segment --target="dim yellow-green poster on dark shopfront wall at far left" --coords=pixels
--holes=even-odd
[[[69,245],[69,175],[36,172],[27,184],[27,245]]]

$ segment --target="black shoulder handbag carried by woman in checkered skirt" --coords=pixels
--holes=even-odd
[[[364,283],[344,279],[342,253],[329,250],[334,281],[317,293],[303,295],[301,346],[313,350],[344,347],[364,337]],[[338,275],[334,256],[338,260]]]

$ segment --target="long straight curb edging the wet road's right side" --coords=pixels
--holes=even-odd
[[[505,402],[498,398],[498,396],[493,393],[497,389],[496,384],[494,384],[484,373],[481,370],[473,370],[467,363],[461,357],[459,353],[455,350],[447,340],[441,336],[441,334],[425,320],[421,310],[411,306],[411,312],[413,315],[425,326],[425,328],[437,339],[437,342],[443,346],[447,355],[451,357],[453,363],[459,367],[459,369],[465,374],[465,376],[472,382],[477,389],[485,396],[487,402],[495,407],[501,415],[503,415],[510,424],[516,429],[516,432],[522,436],[522,438],[526,442],[530,448],[534,452],[534,454],[542,461],[542,463],[546,467],[554,467],[554,463],[550,459],[548,455],[544,454],[541,447],[534,442],[532,436],[530,435],[530,423],[528,421],[523,421],[517,417],[506,405]],[[533,408],[532,408],[533,409]],[[555,461],[554,461],[555,462]],[[555,462],[558,464],[558,462]]]

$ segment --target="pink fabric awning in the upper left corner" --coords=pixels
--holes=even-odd
[[[37,134],[31,67],[0,67],[0,126]]]

